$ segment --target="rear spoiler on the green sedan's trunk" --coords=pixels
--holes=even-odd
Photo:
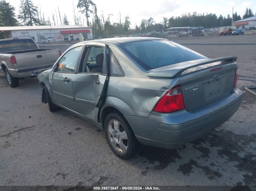
[[[189,68],[194,68],[197,66],[210,64],[213,62],[220,62],[220,61],[221,62],[235,62],[236,59],[237,59],[237,56],[209,59],[209,60],[204,60],[201,62],[180,65],[180,66],[176,66],[176,67],[168,68],[168,69],[164,69],[164,70],[152,71],[152,72],[148,73],[147,76],[148,77],[160,77],[160,78],[173,78],[175,76],[181,75],[182,72],[184,72],[185,70],[187,70]]]

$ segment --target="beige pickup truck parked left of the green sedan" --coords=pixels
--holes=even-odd
[[[52,67],[60,55],[59,49],[40,49],[32,38],[0,40],[0,72],[14,88],[19,79],[36,77]]]

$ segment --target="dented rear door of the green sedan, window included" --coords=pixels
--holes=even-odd
[[[79,63],[72,82],[75,112],[97,122],[98,101],[107,77],[107,47],[86,44]]]

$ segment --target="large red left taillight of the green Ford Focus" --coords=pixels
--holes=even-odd
[[[184,110],[184,101],[181,86],[176,86],[168,91],[155,105],[153,111],[159,113],[171,113]]]

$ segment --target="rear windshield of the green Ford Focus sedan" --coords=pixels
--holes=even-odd
[[[145,70],[206,58],[170,40],[145,40],[121,44],[120,47]]]

